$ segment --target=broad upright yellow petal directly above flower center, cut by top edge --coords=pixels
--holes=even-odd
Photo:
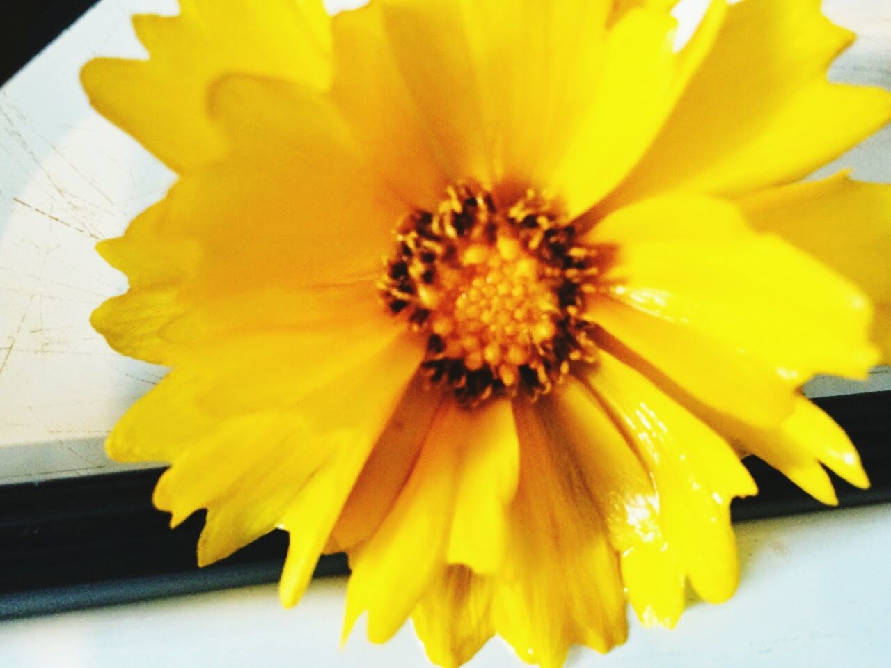
[[[477,122],[486,134],[491,178],[505,190],[505,200],[528,187],[554,187],[552,173],[568,147],[570,127],[590,108],[609,3],[452,4],[462,15],[478,81]]]

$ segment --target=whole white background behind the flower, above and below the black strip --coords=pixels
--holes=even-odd
[[[94,55],[143,53],[131,13],[175,11],[173,0],[102,0],[0,89],[0,482],[114,469],[103,436],[163,373],[111,352],[87,319],[126,287],[95,242],[122,232],[172,175],[89,109],[78,69]],[[832,0],[826,11],[861,36],[832,77],[891,87],[891,3]],[[891,181],[891,130],[840,162]],[[889,380],[879,374],[874,387]],[[889,528],[888,508],[743,525],[732,602],[693,605],[674,633],[634,627],[625,648],[578,652],[572,664],[887,666]],[[357,631],[339,653],[342,590],[315,583],[295,611],[258,587],[5,623],[0,665],[424,665],[409,629],[384,648]],[[472,665],[515,664],[491,643]]]

